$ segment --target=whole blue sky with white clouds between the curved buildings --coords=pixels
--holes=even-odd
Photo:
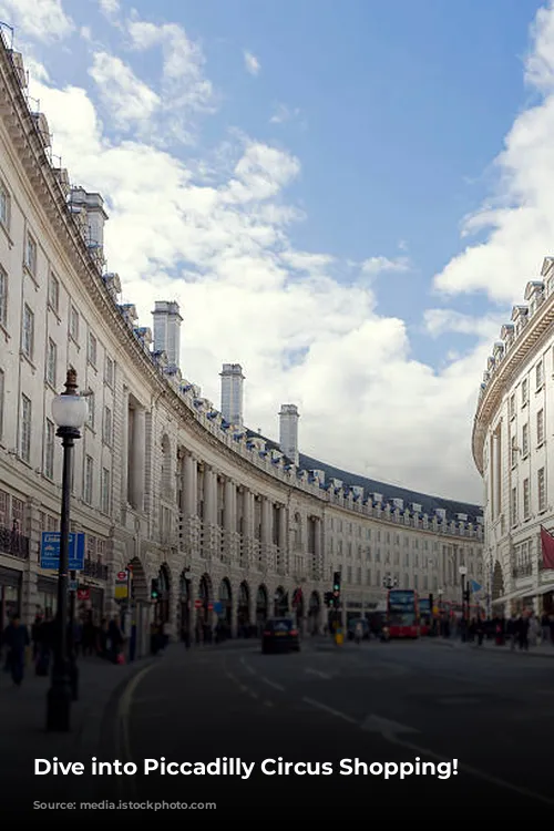
[[[336,466],[479,503],[486,357],[554,238],[554,8],[536,0],[0,0],[140,325]],[[4,37],[11,38],[9,29]]]

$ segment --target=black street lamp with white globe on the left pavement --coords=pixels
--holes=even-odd
[[[86,400],[76,392],[76,372],[68,370],[65,391],[52,401],[52,418],[62,440],[63,474],[60,522],[60,562],[58,566],[57,639],[52,683],[47,698],[47,730],[68,732],[72,699],[71,665],[68,656],[68,571],[71,506],[71,470],[75,439],[81,438],[89,412]]]

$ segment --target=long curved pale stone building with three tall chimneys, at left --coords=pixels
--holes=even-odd
[[[236,634],[286,611],[319,628],[336,570],[351,614],[375,608],[391,581],[456,598],[462,563],[482,582],[476,505],[304,455],[294,404],[280,408],[278,442],[248,430],[237,363],[223,366],[220,407],[203,398],[179,370],[177,304],[156,302],[151,328],[120,302],[103,199],[72,188],[55,167],[47,120],[29,109],[21,55],[3,47],[0,84],[3,618],[55,603],[40,541],[59,527],[51,403],[69,367],[89,401],[72,482],[73,531],[86,548],[79,603],[114,614],[126,592],[117,575],[129,567],[140,650],[154,617],[175,635],[216,617]]]

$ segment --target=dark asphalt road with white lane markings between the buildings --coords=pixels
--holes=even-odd
[[[306,642],[300,654],[174,648],[142,670],[106,721],[102,759],[136,776],[98,777],[99,803],[165,807],[554,806],[551,748],[554,661],[488,647]],[[248,778],[143,773],[144,759],[255,762]],[[265,759],[330,762],[332,774],[260,771]],[[390,763],[389,779],[342,774],[343,759]],[[400,765],[432,762],[401,780]],[[447,778],[437,772],[458,771]],[[442,766],[440,763],[442,762]],[[394,765],[398,766],[394,769]],[[271,766],[275,767],[275,766]],[[396,804],[396,803],[393,803]],[[408,803],[407,803],[408,804]],[[402,803],[398,803],[401,809]]]

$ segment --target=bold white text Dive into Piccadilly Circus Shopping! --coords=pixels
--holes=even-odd
[[[52,759],[35,759],[35,776],[229,776],[249,779],[256,768],[264,776],[372,776],[382,779],[407,779],[412,776],[429,776],[437,779],[450,779],[458,773],[458,759],[442,762],[421,761],[417,756],[412,761],[367,761],[363,759],[340,759],[334,762],[300,761],[291,762],[281,756],[277,759],[264,759],[261,762],[247,762],[235,757],[223,756],[211,762],[168,761],[143,759],[142,765],[122,762],[119,759],[100,761],[92,757],[90,765],[83,762],[64,762],[54,756]]]

